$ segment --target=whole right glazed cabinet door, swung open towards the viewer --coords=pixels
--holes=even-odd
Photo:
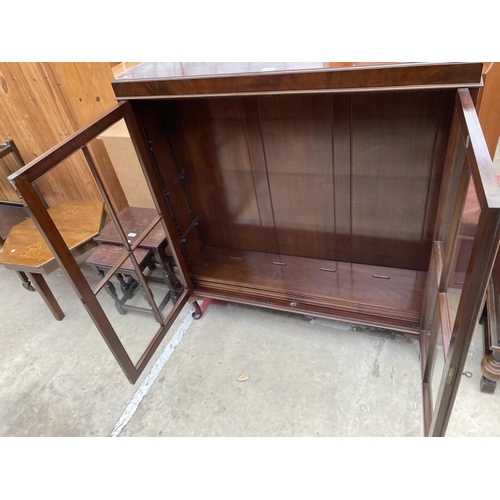
[[[459,89],[422,319],[425,435],[444,436],[500,242],[500,187],[469,90]]]

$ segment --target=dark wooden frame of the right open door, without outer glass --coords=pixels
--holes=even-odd
[[[457,163],[458,148],[463,148],[463,163]],[[472,335],[481,314],[486,289],[500,245],[500,187],[497,182],[488,147],[469,89],[458,89],[455,117],[448,145],[447,171],[439,207],[439,221],[435,233],[429,279],[435,280],[433,301],[424,301],[422,316],[422,386],[424,403],[424,430],[426,436],[444,436],[461,382]],[[455,169],[455,172],[452,170]],[[446,183],[460,174],[457,196],[446,196]],[[448,278],[457,252],[457,238],[468,183],[474,182],[481,208],[470,261],[454,324],[450,323],[447,301]],[[449,228],[444,229],[446,205],[453,204]],[[447,233],[447,234],[445,234]],[[446,247],[443,242],[446,241]],[[433,317],[433,318],[432,318]],[[432,319],[431,319],[432,318]],[[429,328],[429,330],[427,330]],[[433,407],[431,380],[436,356],[436,343],[441,328],[445,365]]]

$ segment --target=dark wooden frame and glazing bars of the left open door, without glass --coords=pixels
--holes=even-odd
[[[158,348],[159,344],[165,337],[167,331],[172,326],[178,314],[188,301],[191,295],[191,291],[189,289],[185,289],[177,299],[170,314],[165,319],[161,318],[163,321],[161,322],[162,324],[159,330],[150,341],[139,361],[134,364],[130,356],[126,352],[124,346],[122,345],[120,339],[118,338],[108,317],[104,313],[99,301],[97,300],[96,295],[100,290],[102,290],[107,281],[109,281],[109,279],[113,276],[113,269],[119,268],[121,264],[123,264],[123,262],[125,262],[125,260],[127,259],[130,259],[132,261],[143,288],[149,290],[149,287],[147,286],[146,281],[139,270],[139,266],[133,254],[133,251],[139,246],[144,238],[147,237],[149,232],[153,229],[153,225],[151,225],[145,233],[138,237],[133,245],[130,245],[128,243],[125,233],[118,221],[118,216],[116,210],[113,207],[111,196],[105,186],[105,183],[103,182],[98,169],[96,168],[94,155],[91,149],[87,147],[90,141],[95,139],[104,130],[121,119],[125,119],[129,127],[132,142],[136,149],[136,153],[143,169],[145,178],[148,180],[151,196],[158,212],[158,222],[161,221],[163,229],[165,230],[168,243],[169,245],[171,245],[174,259],[176,260],[178,268],[181,269],[181,271],[183,269],[186,269],[184,256],[182,255],[182,252],[179,252],[178,242],[170,238],[170,234],[175,234],[175,232],[172,232],[173,228],[170,227],[172,221],[170,221],[169,219],[164,219],[162,216],[162,214],[165,213],[164,211],[162,211],[164,210],[163,204],[165,202],[162,199],[163,197],[161,187],[159,186],[154,176],[154,167],[151,164],[149,156],[147,154],[144,154],[144,142],[140,139],[140,130],[133,114],[132,107],[128,102],[117,104],[111,110],[101,115],[90,124],[83,127],[78,132],[72,134],[66,140],[62,141],[57,146],[49,149],[46,153],[39,156],[36,160],[33,160],[28,165],[24,166],[23,168],[9,176],[8,179],[14,190],[18,194],[23,205],[26,207],[29,215],[33,219],[33,222],[42,234],[50,250],[54,254],[54,257],[56,258],[60,268],[68,277],[78,298],[87,310],[89,316],[92,318],[94,324],[96,325],[109,349],[113,353],[113,356],[115,357],[119,366],[127,376],[130,383],[134,384],[153,356],[155,350]],[[87,160],[90,171],[92,172],[101,196],[103,197],[106,208],[114,223],[116,224],[125,250],[123,257],[119,259],[114,268],[99,282],[94,290],[88,284],[76,260],[71,255],[70,250],[68,249],[61,234],[57,230],[54,222],[48,214],[47,208],[43,204],[43,199],[41,199],[39,193],[37,193],[36,186],[33,185],[33,183],[36,182],[37,179],[45,175],[47,172],[55,168],[59,163],[61,163],[80,149],[83,151],[85,159]],[[157,311],[157,306],[154,304],[154,301],[152,301],[152,308],[153,312],[158,317],[159,312]]]

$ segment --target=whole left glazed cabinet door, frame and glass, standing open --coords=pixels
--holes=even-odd
[[[123,148],[115,151],[113,141],[126,146],[125,154]],[[121,183],[113,178],[117,163],[126,165]],[[90,170],[95,185],[85,184],[82,179],[92,177],[79,175],[82,168]],[[71,181],[64,192],[54,182],[56,170],[57,178],[65,175]],[[171,237],[177,228],[161,174],[130,104],[118,104],[9,181],[118,364],[135,383],[190,292],[182,248]],[[82,241],[87,242],[83,250]]]

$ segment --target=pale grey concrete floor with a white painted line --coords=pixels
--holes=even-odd
[[[192,321],[186,305],[132,386],[63,273],[47,281],[63,321],[0,266],[0,436],[423,435],[419,345],[404,335],[236,304]],[[152,316],[99,298],[137,360]],[[500,436],[500,389],[479,391],[482,356],[478,326],[448,436]]]

